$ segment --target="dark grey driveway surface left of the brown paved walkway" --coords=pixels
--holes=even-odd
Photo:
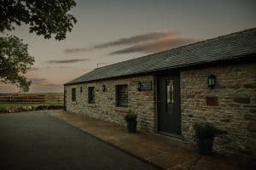
[[[156,169],[44,111],[0,115],[0,169]]]

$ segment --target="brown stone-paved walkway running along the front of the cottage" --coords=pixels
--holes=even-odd
[[[199,156],[195,146],[154,133],[127,133],[125,127],[67,111],[46,111],[73,127],[164,169],[253,169],[256,162],[241,157]]]

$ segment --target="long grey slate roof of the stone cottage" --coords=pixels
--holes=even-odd
[[[243,58],[247,54],[256,54],[256,28],[103,66],[65,85]]]

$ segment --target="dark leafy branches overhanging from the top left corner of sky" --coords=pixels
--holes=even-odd
[[[0,31],[15,30],[14,24],[24,23],[30,32],[62,40],[77,22],[68,14],[75,5],[74,0],[0,0]]]

